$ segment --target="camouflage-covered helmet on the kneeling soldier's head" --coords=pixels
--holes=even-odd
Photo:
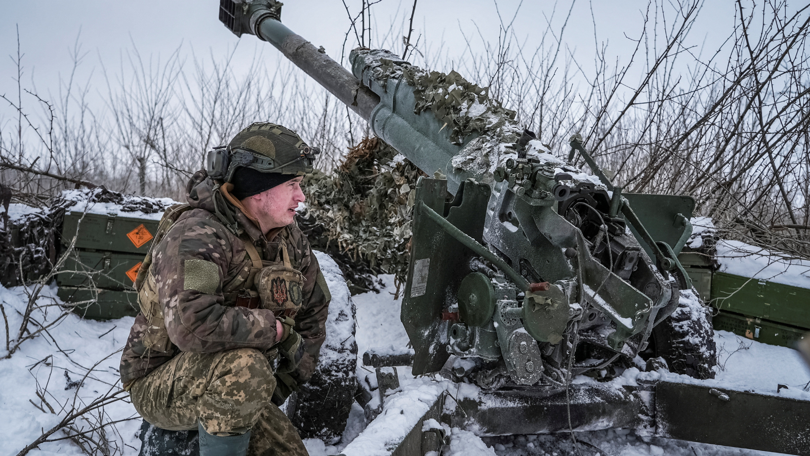
[[[237,133],[227,146],[208,153],[206,168],[213,179],[231,182],[234,172],[251,168],[262,173],[304,175],[313,170],[321,149],[275,123],[254,123]]]

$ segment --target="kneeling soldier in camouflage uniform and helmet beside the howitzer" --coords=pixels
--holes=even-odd
[[[277,406],[326,338],[329,290],[295,223],[318,152],[273,123],[245,128],[209,153],[139,269],[124,389],[157,428],[198,429],[202,456],[307,454]]]

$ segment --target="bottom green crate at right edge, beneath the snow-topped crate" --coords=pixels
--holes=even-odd
[[[794,346],[802,340],[807,329],[780,325],[774,321],[762,320],[734,312],[720,311],[712,319],[714,329],[731,331],[737,335],[770,345]]]

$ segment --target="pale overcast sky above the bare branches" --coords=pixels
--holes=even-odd
[[[358,0],[346,0],[353,11],[358,11]],[[514,15],[520,2],[498,0],[498,8],[506,20]],[[595,16],[597,39],[609,42],[610,54],[626,58],[642,28],[642,16],[647,0],[599,1],[578,0],[565,32],[565,45],[576,49],[578,58],[592,61],[595,47],[591,8]],[[373,6],[374,19],[379,27],[388,27],[392,20],[410,15],[410,0],[382,0]],[[556,15],[562,19],[569,10],[569,1],[524,0],[514,29],[527,45],[539,41],[547,28],[544,16]],[[240,40],[220,24],[218,0],[178,2],[173,0],[40,0],[37,2],[4,2],[0,15],[0,94],[16,97],[16,67],[10,56],[16,54],[16,29],[23,56],[23,87],[36,85],[44,96],[56,96],[60,76],[65,79],[71,69],[70,48],[78,40],[87,52],[77,75],[87,80],[93,71],[94,83],[100,88],[99,75],[103,63],[108,71],[117,71],[122,51],[132,49],[148,58],[166,58],[178,46],[181,53],[190,55],[192,49],[198,58],[213,55],[221,58],[237,46],[233,71],[240,71],[242,63],[249,62],[255,53],[275,61],[277,51],[272,46],[245,36]],[[554,10],[556,8],[556,13]],[[697,29],[690,36],[694,45],[706,40],[716,45],[731,32],[734,2],[712,0],[699,16]],[[346,11],[340,0],[288,0],[283,6],[282,20],[289,28],[314,45],[322,45],[327,54],[339,60],[343,36],[348,28]],[[414,38],[427,37],[433,49],[443,45],[448,55],[459,55],[465,47],[460,30],[467,35],[480,33],[489,41],[497,41],[499,20],[492,0],[420,0],[416,6]],[[554,28],[559,30],[561,22]],[[423,38],[424,40],[424,38]],[[480,42],[477,40],[476,42]],[[372,43],[374,45],[374,43]],[[399,49],[392,49],[400,52]],[[7,106],[0,107],[0,116],[6,117]],[[7,117],[6,117],[7,120]]]

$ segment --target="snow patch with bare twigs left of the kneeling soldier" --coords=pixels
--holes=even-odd
[[[35,310],[34,320],[47,325],[60,315],[62,309],[55,305],[61,303],[56,291],[56,286],[42,290],[37,303],[49,307]],[[13,348],[28,297],[21,286],[11,290],[0,286],[0,303],[8,317]],[[80,409],[120,389],[120,350],[133,322],[132,317],[106,322],[82,320],[70,313],[49,329],[49,336],[23,342],[11,359],[2,359],[7,351],[5,345],[0,348],[0,456],[23,450],[40,437],[43,430],[58,424],[74,404]],[[36,323],[31,325],[36,326]],[[0,340],[5,341],[6,334]],[[140,427],[140,419],[127,395],[119,396],[122,400],[96,413],[103,412],[107,422],[129,419],[105,428],[105,433],[113,441],[111,447],[117,448],[117,454],[138,454],[135,449],[140,443],[135,432]],[[84,427],[86,431],[90,425],[80,423],[78,428]],[[50,438],[64,437],[66,433],[58,431]],[[83,454],[78,445],[66,440],[44,443],[40,450],[29,454],[57,453]]]

